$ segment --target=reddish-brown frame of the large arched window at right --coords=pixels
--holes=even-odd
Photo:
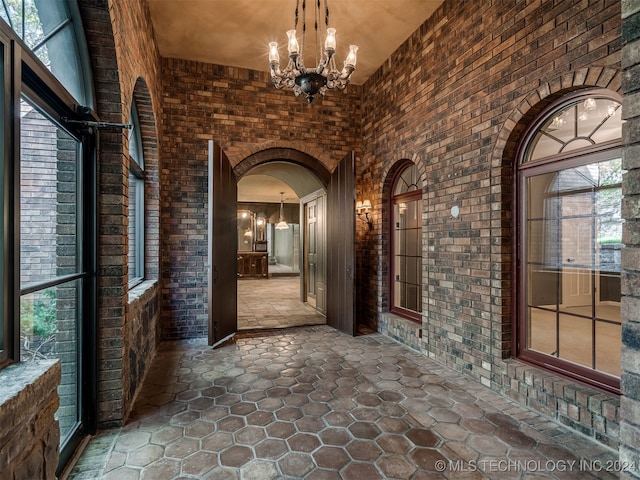
[[[513,287],[513,299],[515,308],[513,311],[513,343],[512,355],[526,363],[541,367],[545,370],[579,381],[607,393],[620,394],[620,378],[603,371],[595,370],[566,359],[553,357],[541,352],[529,349],[527,346],[527,332],[529,321],[528,307],[528,250],[527,250],[527,186],[529,178],[534,178],[546,173],[560,173],[571,168],[592,165],[615,158],[621,158],[622,138],[595,144],[590,147],[578,148],[568,152],[561,152],[526,162],[529,150],[537,132],[554,115],[564,108],[576,102],[583,101],[587,97],[605,98],[621,104],[621,99],[612,92],[602,89],[586,89],[565,95],[544,108],[526,129],[518,145],[516,161],[514,162],[514,192],[516,195],[516,215],[514,238],[514,265],[515,282]],[[560,168],[561,167],[561,168]],[[593,273],[593,271],[592,271]],[[591,319],[594,321],[594,318]],[[595,339],[592,340],[595,341]],[[593,345],[591,345],[593,348]]]

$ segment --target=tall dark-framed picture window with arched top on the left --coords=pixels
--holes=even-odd
[[[0,0],[0,44],[0,138],[15,139],[0,141],[0,364],[60,362],[60,473],[96,418],[95,137],[77,108],[94,102],[75,0]]]

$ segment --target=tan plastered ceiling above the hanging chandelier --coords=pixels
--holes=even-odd
[[[298,24],[301,43],[302,0]],[[321,5],[324,6],[321,0]],[[328,0],[329,25],[337,30],[336,65],[350,44],[360,47],[351,81],[363,84],[440,6],[443,0]],[[307,0],[307,46],[313,44],[314,5]],[[296,0],[149,0],[160,55],[218,65],[269,70],[268,43],[280,45],[286,65],[286,31]],[[320,41],[324,42],[324,28]],[[315,48],[305,49],[307,66]]]

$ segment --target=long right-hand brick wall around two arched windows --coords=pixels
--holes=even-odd
[[[554,390],[544,372],[506,359],[516,142],[564,93],[619,92],[620,22],[620,3],[604,0],[445,2],[364,85],[357,170],[375,220],[375,232],[358,230],[361,321],[612,446],[616,397],[597,401],[572,382]],[[426,185],[421,341],[420,325],[385,313],[390,179],[403,159]]]

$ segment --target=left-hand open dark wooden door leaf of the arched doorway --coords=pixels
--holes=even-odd
[[[209,345],[237,328],[237,184],[220,146],[209,141]]]

